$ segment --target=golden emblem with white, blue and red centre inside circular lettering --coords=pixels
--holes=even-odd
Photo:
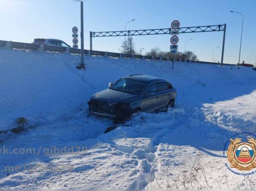
[[[231,168],[238,170],[251,170],[256,167],[256,140],[247,138],[248,142],[242,142],[241,138],[230,139],[227,156]]]

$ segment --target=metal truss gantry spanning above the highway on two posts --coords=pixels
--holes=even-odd
[[[126,30],[126,31],[105,31],[105,32],[92,32],[90,31],[90,50],[92,51],[92,38],[93,37],[117,37],[117,36],[138,36],[138,35],[169,35],[171,28],[162,29],[145,29],[145,30]],[[192,33],[192,32],[214,32],[224,31],[222,43],[221,66],[223,64],[226,24],[223,25],[207,25],[197,27],[180,27],[179,33]]]

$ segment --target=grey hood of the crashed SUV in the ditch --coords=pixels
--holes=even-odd
[[[112,89],[106,89],[93,95],[92,99],[106,101],[108,103],[117,103],[120,101],[128,101],[138,97],[136,94],[120,92]]]

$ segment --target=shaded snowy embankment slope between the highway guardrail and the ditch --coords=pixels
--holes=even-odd
[[[128,74],[164,78],[176,87],[177,102],[190,104],[237,97],[236,85],[255,85],[256,72],[247,67],[175,63],[172,70],[168,62],[85,56],[87,70],[82,71],[75,68],[79,60],[79,55],[0,49],[0,130],[12,129],[19,117],[33,125],[72,119],[94,93]],[[233,91],[226,92],[226,86]]]

